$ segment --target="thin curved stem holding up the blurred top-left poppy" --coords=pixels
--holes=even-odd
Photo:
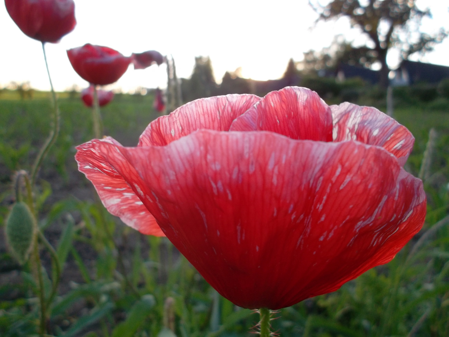
[[[36,181],[36,174],[37,171],[39,171],[40,164],[42,163],[42,160],[44,160],[45,156],[48,153],[48,150],[50,150],[50,147],[54,144],[56,141],[57,135],[59,133],[59,120],[60,120],[60,112],[59,107],[57,104],[57,98],[56,93],[53,88],[52,79],[50,77],[50,71],[48,70],[48,62],[47,62],[47,55],[45,54],[45,43],[42,42],[42,50],[44,51],[44,59],[45,59],[45,66],[47,67],[47,74],[48,74],[48,80],[50,80],[50,87],[52,89],[52,98],[53,98],[53,118],[51,122],[51,129],[50,134],[48,135],[48,138],[45,140],[44,145],[39,150],[39,154],[36,157],[36,160],[34,162],[33,168],[31,170],[31,186],[34,186]]]

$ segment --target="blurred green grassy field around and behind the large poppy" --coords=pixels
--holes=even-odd
[[[13,203],[13,172],[30,169],[48,135],[48,96],[0,94],[1,224]],[[216,293],[167,239],[141,235],[102,207],[73,158],[75,146],[92,138],[91,111],[75,93],[59,98],[61,133],[40,170],[35,198],[39,226],[63,265],[49,301],[48,336],[253,336],[257,314]],[[379,102],[373,104],[385,111]],[[152,104],[151,94],[116,95],[101,110],[105,134],[136,145],[158,117]],[[273,331],[281,336],[449,337],[449,101],[401,101],[393,116],[416,138],[405,166],[415,176],[427,148],[423,230],[387,265],[275,313]],[[436,138],[428,142],[432,128]],[[57,276],[44,247],[40,258],[48,298]],[[1,336],[38,335],[37,288],[31,263],[15,262],[0,231]]]

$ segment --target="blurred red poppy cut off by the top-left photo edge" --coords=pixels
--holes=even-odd
[[[75,28],[73,0],[5,0],[9,16],[25,35],[42,42],[58,42]]]

